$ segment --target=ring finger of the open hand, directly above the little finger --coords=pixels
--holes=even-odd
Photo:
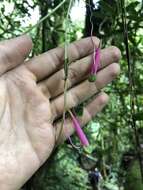
[[[66,95],[68,100],[66,108],[71,109],[92,97],[100,89],[109,84],[119,74],[119,72],[119,65],[117,63],[113,63],[98,72],[95,82],[91,83],[88,80],[84,80],[82,83],[68,90]],[[51,108],[54,118],[62,115],[64,111],[64,94],[51,101]]]

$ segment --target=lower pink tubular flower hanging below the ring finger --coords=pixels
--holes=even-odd
[[[81,129],[78,119],[73,114],[71,114],[71,117],[72,117],[73,127],[75,128],[75,131],[80,139],[81,144],[83,146],[88,146],[89,145],[88,139],[84,134],[83,130]]]

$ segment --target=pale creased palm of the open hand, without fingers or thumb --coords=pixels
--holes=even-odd
[[[50,155],[55,144],[54,128],[49,101],[28,70],[20,67],[13,74],[7,73],[1,77],[0,87],[0,186],[15,189]],[[15,176],[16,184],[12,180]],[[3,181],[7,181],[4,186]]]

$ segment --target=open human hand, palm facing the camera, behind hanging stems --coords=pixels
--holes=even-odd
[[[99,40],[94,38],[95,45]],[[22,36],[0,44],[0,189],[19,189],[50,156],[60,132],[64,107],[64,49],[56,48],[24,62],[32,42]],[[92,60],[90,38],[68,48],[69,68],[67,107],[70,109],[110,83],[120,72],[120,51],[101,51],[102,68],[95,83],[87,80]],[[85,108],[82,125],[107,104],[100,93]],[[53,125],[54,122],[54,125]],[[66,135],[73,133],[66,121]],[[63,130],[64,131],[64,130]],[[64,132],[61,137],[65,138]]]

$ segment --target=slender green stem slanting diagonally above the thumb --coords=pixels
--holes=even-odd
[[[40,19],[35,25],[33,25],[31,28],[29,28],[24,34],[29,33],[31,30],[33,30],[35,27],[39,26],[44,20],[46,20],[48,17],[50,17],[54,12],[56,12],[67,0],[63,0],[61,3],[59,3],[50,13],[45,15],[42,19]]]

